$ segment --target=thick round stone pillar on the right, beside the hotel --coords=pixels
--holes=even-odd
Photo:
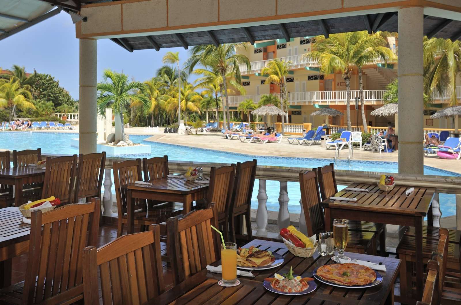
[[[398,12],[399,173],[423,174],[423,8]]]

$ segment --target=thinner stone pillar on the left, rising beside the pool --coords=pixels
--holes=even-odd
[[[80,39],[78,140],[79,152],[96,152],[96,59],[97,42],[92,38]]]

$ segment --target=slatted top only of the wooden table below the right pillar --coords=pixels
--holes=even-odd
[[[414,191],[406,196],[405,191],[410,186],[396,185],[391,191],[381,191],[378,185],[353,183],[350,188],[363,188],[365,191],[338,191],[335,197],[357,198],[357,201],[325,199],[323,207],[355,209],[355,210],[381,210],[387,213],[411,214],[426,216],[435,188],[414,187]]]

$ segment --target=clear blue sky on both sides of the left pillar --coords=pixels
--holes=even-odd
[[[25,66],[26,72],[52,75],[59,84],[78,100],[78,54],[79,43],[75,38],[75,25],[71,17],[62,11],[15,35],[0,41],[0,68],[12,65]],[[137,81],[152,78],[162,66],[166,52],[178,52],[181,65],[188,57],[184,48],[135,50],[133,53],[109,39],[98,40],[98,81],[104,69],[124,72]],[[192,82],[195,75],[189,77]]]

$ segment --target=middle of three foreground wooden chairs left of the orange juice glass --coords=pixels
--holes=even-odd
[[[160,228],[152,225],[151,229],[83,250],[85,304],[101,304],[99,284],[104,305],[144,304],[165,291]]]

